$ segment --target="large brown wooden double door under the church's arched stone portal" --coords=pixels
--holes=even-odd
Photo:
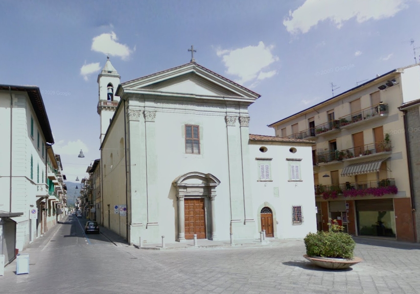
[[[185,198],[185,239],[205,239],[205,211],[204,198]]]

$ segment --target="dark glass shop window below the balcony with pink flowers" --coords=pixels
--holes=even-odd
[[[357,200],[359,236],[395,238],[395,213],[392,199]]]

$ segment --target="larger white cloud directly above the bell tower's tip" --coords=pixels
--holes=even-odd
[[[103,33],[92,40],[91,50],[127,60],[133,51],[126,44],[121,44],[117,40],[114,32]]]

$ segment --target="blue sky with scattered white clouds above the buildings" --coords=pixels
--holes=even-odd
[[[268,124],[329,99],[332,82],[338,94],[414,63],[419,12],[420,0],[3,0],[0,83],[40,87],[74,182],[99,158],[107,52],[124,82],[189,62],[194,44],[197,63],[261,94],[250,132],[274,135]]]

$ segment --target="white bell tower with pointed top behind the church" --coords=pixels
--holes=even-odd
[[[114,111],[120,102],[120,97],[115,96],[115,91],[120,84],[120,79],[121,76],[112,66],[108,56],[104,68],[102,68],[101,73],[98,75],[98,114],[101,117],[101,144],[111,122],[111,118],[114,115]]]

